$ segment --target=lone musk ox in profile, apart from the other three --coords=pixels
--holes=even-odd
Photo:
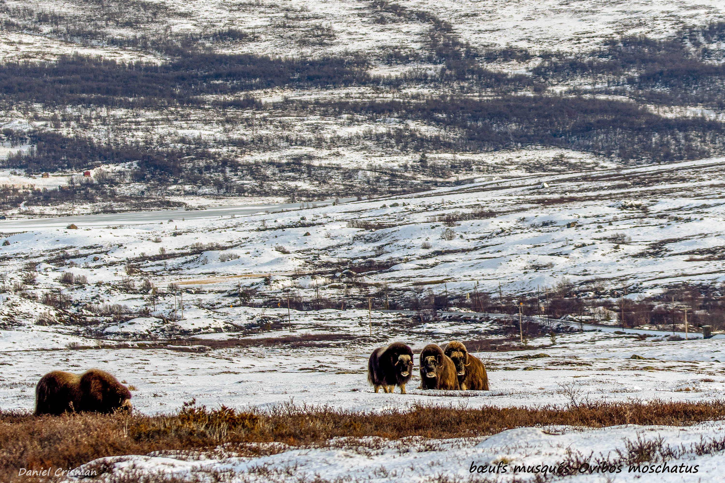
[[[128,388],[106,371],[88,369],[83,374],[52,371],[36,385],[36,416],[70,412],[112,413],[131,410]]]

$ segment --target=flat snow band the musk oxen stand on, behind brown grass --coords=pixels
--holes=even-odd
[[[373,348],[402,340],[419,350],[427,343],[446,343],[451,337],[436,333],[436,324],[406,330],[385,320],[382,327],[373,327],[370,337],[367,314],[362,312],[344,313],[339,318],[330,311],[307,314],[309,325],[316,322],[324,326],[310,331],[320,332],[320,337],[307,343],[280,338],[309,333],[293,324],[294,332],[279,329],[265,334],[280,338],[274,345],[199,353],[166,348],[101,348],[98,342],[90,342],[94,344],[90,348],[68,349],[63,343],[77,341],[77,337],[38,329],[2,331],[1,407],[32,410],[33,386],[43,374],[51,370],[80,372],[89,367],[110,371],[132,385],[134,407],[142,413],[168,413],[192,398],[210,408],[223,404],[264,409],[294,403],[384,411],[411,408],[415,403],[463,404],[469,408],[566,406],[572,402],[572,395],[577,402],[697,401],[721,398],[725,390],[725,356],[721,352],[725,350],[724,340],[644,342],[631,335],[584,332],[559,335],[554,345],[548,337],[531,340],[533,350],[476,353],[489,371],[489,391],[455,395],[418,390],[415,356],[415,377],[407,387],[407,395],[399,394],[399,390],[376,394],[366,379],[367,360]],[[463,329],[463,337],[456,338],[470,340],[476,332],[480,334],[480,328]],[[339,338],[341,334],[345,337]],[[188,350],[196,350],[196,346]]]

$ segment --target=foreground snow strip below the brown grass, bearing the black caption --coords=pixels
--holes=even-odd
[[[725,457],[703,455],[698,447],[721,442],[723,429],[721,422],[712,422],[692,427],[518,428],[485,439],[340,438],[324,448],[276,447],[281,453],[259,458],[117,456],[88,463],[78,472],[102,467],[106,477],[159,473],[202,482],[510,482],[537,481],[537,476],[550,478],[552,473],[578,483],[720,482]],[[676,456],[666,462],[634,463],[633,449],[642,442],[676,448]]]

